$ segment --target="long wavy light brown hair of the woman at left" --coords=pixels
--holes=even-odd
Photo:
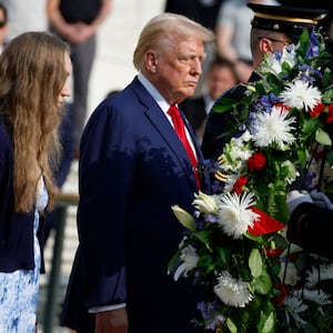
[[[58,98],[67,73],[68,46],[47,32],[13,39],[0,56],[0,114],[13,140],[13,192],[17,212],[30,212],[43,176],[52,206],[51,163],[59,152]]]

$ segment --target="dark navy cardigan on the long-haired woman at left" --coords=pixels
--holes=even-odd
[[[0,117],[0,272],[33,270],[34,213],[14,213],[13,144]]]

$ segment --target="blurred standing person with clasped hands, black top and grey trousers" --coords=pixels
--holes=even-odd
[[[111,0],[47,0],[52,31],[71,46],[72,119],[78,148],[87,118],[89,78],[97,50],[97,31],[111,11]]]

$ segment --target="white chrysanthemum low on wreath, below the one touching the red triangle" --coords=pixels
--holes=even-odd
[[[249,291],[249,283],[233,279],[226,271],[219,275],[214,293],[223,303],[234,307],[244,307],[253,299]]]

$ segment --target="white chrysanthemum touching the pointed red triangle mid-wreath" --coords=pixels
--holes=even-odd
[[[244,193],[239,196],[235,193],[226,193],[221,196],[218,224],[223,232],[233,239],[240,239],[253,226],[253,222],[259,218],[251,210],[255,204],[252,193]]]

